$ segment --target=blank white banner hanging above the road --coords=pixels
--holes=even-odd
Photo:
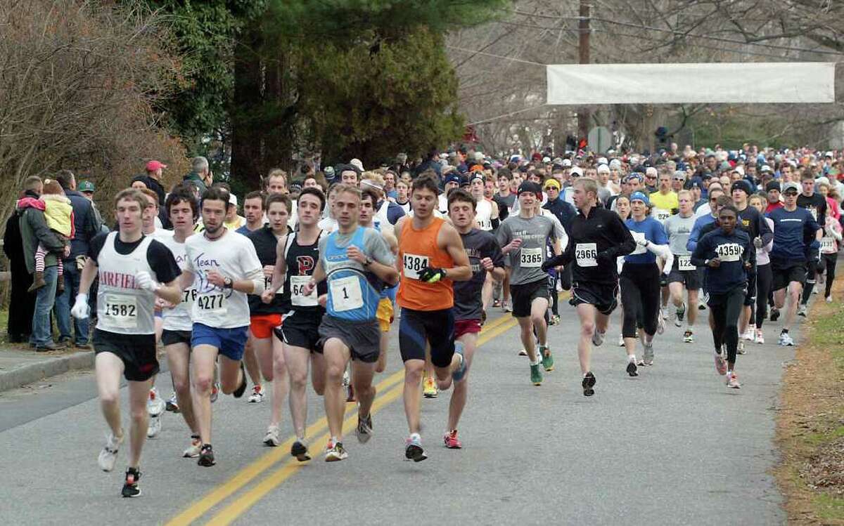
[[[835,62],[554,64],[549,105],[835,102]]]

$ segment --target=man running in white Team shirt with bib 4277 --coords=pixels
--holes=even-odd
[[[187,266],[181,286],[191,283],[197,289],[192,309],[193,411],[199,427],[202,448],[197,464],[216,464],[211,445],[211,387],[218,362],[220,388],[235,398],[246,391],[243,367],[244,346],[249,335],[247,294],[260,294],[264,288],[261,261],[249,239],[225,228],[229,192],[212,186],[203,194],[200,211],[203,234],[185,242]]]

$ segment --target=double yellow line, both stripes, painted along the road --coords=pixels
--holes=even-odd
[[[499,319],[490,322],[481,330],[478,338],[478,345],[481,346],[487,341],[492,340],[496,336],[503,334],[507,330],[517,325],[517,320],[510,315],[505,314]],[[371,413],[375,414],[384,406],[396,400],[403,389],[402,380],[404,378],[404,369],[400,368],[396,373],[392,373],[387,378],[384,378],[376,384],[376,392],[379,395],[372,404]],[[357,413],[349,416],[344,422],[343,426],[349,427],[354,425],[354,419],[357,418]],[[312,423],[306,429],[306,436],[313,437],[319,435],[317,440],[311,441],[311,454],[316,454],[325,448],[328,439],[330,438],[327,432],[328,421],[325,416]],[[213,518],[208,521],[208,524],[230,524],[235,518],[238,518],[242,513],[246,512],[250,507],[254,506],[256,502],[260,501],[268,492],[279,486],[284,480],[294,475],[296,471],[300,470],[304,463],[295,459],[289,458],[290,446],[293,445],[295,437],[289,437],[284,443],[277,448],[272,448],[266,454],[254,460],[251,464],[246,465],[245,468],[238,471],[233,477],[227,480],[220,486],[214,488],[207,495],[194,502],[186,510],[170,519],[166,526],[185,526],[193,521],[201,518],[205,513],[217,506],[220,502],[225,501],[236,491],[249,484],[258,475],[262,475],[264,471],[269,470],[279,462],[281,465],[273,470],[267,477],[256,485],[252,485],[248,491],[245,491],[241,496],[238,496],[228,506],[221,509]],[[285,460],[286,459],[286,460]]]

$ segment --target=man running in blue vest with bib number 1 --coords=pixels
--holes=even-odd
[[[343,446],[343,373],[350,359],[359,401],[355,431],[361,443],[372,436],[370,410],[376,394],[372,376],[381,338],[376,319],[379,292],[385,283],[395,285],[398,280],[389,247],[375,230],[358,225],[359,213],[360,191],[351,185],[338,185],[334,215],[339,229],[320,239],[317,268],[302,290],[303,296],[311,296],[317,283],[327,280],[327,314],[319,327],[326,368],[323,399],[331,432],[326,462],[349,457]]]

